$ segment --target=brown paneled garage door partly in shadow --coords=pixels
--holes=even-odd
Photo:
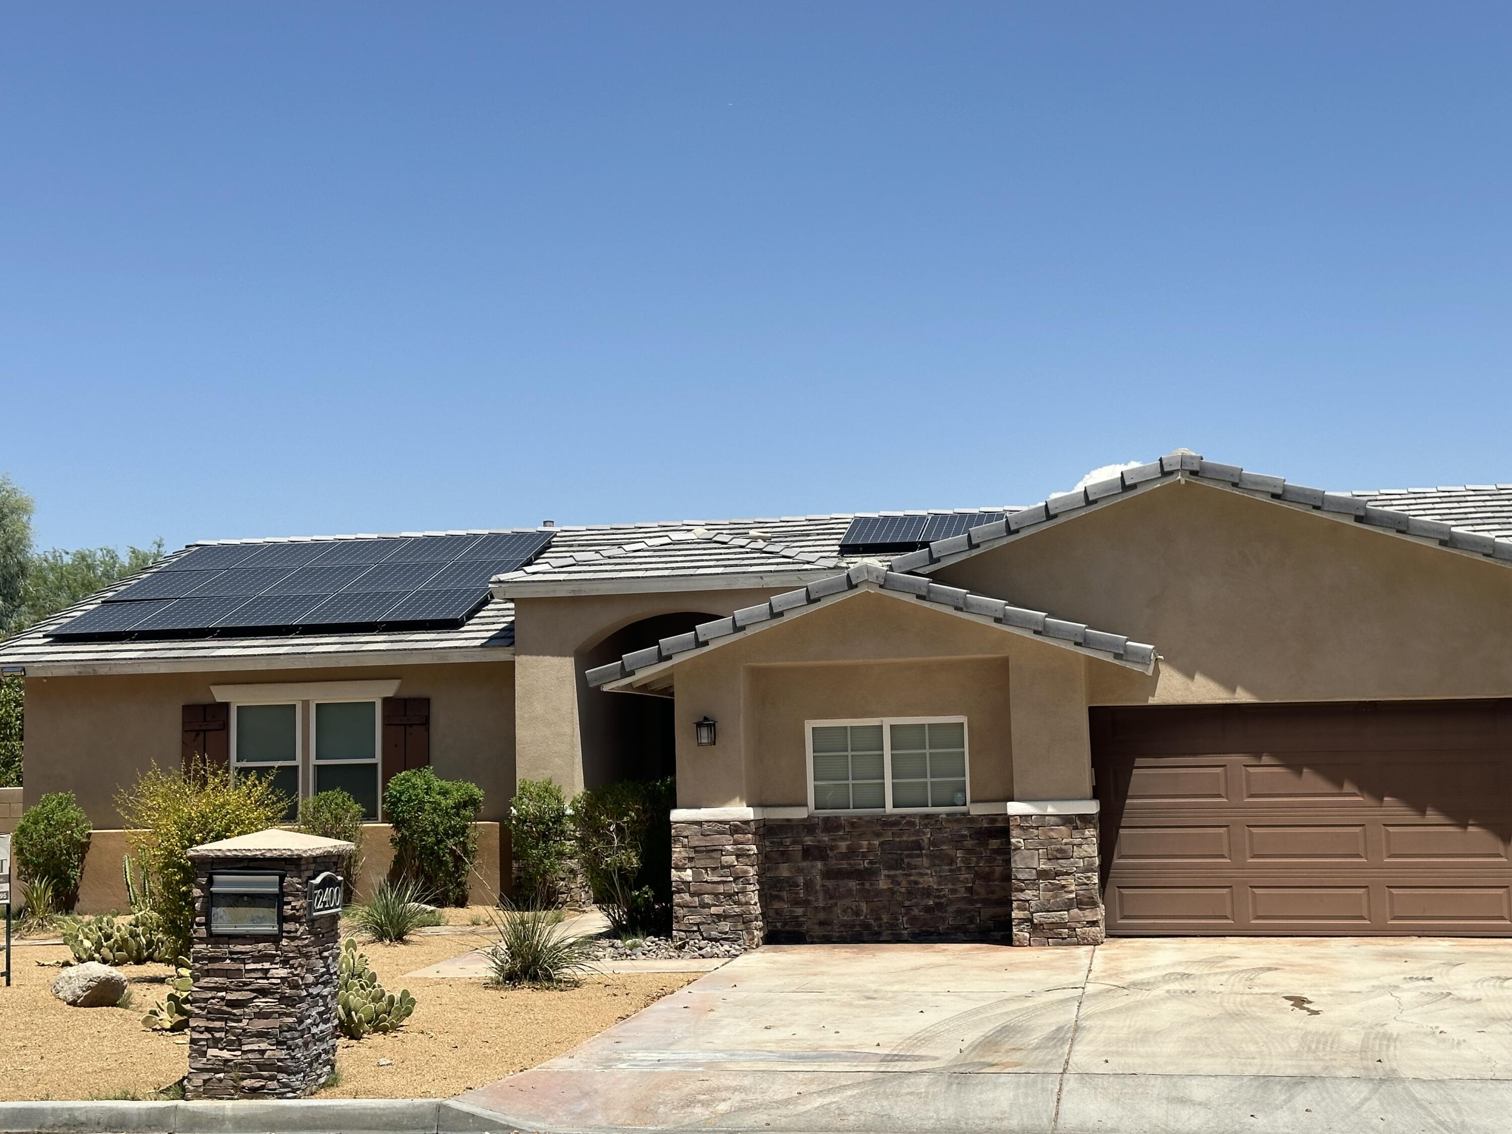
[[[1108,931],[1512,934],[1512,702],[1093,709]]]

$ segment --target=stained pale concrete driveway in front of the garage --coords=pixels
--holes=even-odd
[[[1512,943],[767,947],[458,1101],[556,1131],[1504,1131]]]

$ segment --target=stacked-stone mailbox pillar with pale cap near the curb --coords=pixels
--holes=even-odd
[[[330,1078],[337,875],[352,850],[337,839],[263,830],[189,851],[195,918],[186,1098],[302,1098]]]

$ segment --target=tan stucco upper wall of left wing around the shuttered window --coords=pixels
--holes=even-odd
[[[184,705],[213,702],[212,685],[399,679],[401,697],[431,699],[431,767],[484,789],[485,820],[514,794],[514,664],[428,664],[27,677],[24,792],[71,791],[95,827],[119,827],[115,794],[156,761],[178,767]]]

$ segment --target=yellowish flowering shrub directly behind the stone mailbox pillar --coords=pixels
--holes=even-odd
[[[163,919],[168,956],[189,953],[194,925],[194,863],[189,848],[201,842],[251,835],[280,823],[289,798],[263,776],[231,773],[195,756],[187,770],[156,764],[115,797],[132,830],[130,841],[151,880],[153,910]]]

